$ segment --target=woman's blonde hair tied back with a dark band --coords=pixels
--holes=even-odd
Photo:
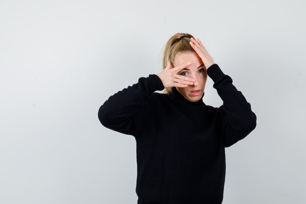
[[[180,40],[180,37],[183,37]],[[162,59],[162,66],[163,69],[167,67],[168,62],[171,63],[171,68],[174,68],[174,60],[175,55],[178,52],[196,52],[194,48],[189,44],[190,38],[194,38],[194,36],[188,33],[176,33],[173,35],[167,43],[164,45],[164,52],[163,52],[163,59]],[[172,87],[165,88],[162,93],[169,94],[172,92]]]

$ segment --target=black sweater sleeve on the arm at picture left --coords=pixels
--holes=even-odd
[[[116,132],[135,136],[149,117],[153,92],[163,89],[157,75],[140,77],[138,83],[111,95],[99,108],[101,124]]]

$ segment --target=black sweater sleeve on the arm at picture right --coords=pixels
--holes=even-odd
[[[223,101],[218,111],[224,145],[229,147],[255,129],[257,117],[241,91],[232,84],[232,78],[224,74],[217,64],[209,67],[207,74],[214,81],[213,87]]]

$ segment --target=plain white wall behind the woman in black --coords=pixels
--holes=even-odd
[[[304,0],[0,0],[0,204],[136,204],[136,142],[110,95],[199,38],[257,115],[226,148],[223,204],[306,203]],[[208,78],[204,103],[222,105]]]

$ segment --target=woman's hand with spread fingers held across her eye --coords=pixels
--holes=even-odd
[[[196,80],[192,77],[178,75],[177,72],[179,72],[183,68],[186,68],[190,64],[191,63],[188,62],[175,68],[171,68],[171,63],[168,62],[167,67],[156,75],[160,78],[165,88],[187,87],[188,85],[193,85]]]

